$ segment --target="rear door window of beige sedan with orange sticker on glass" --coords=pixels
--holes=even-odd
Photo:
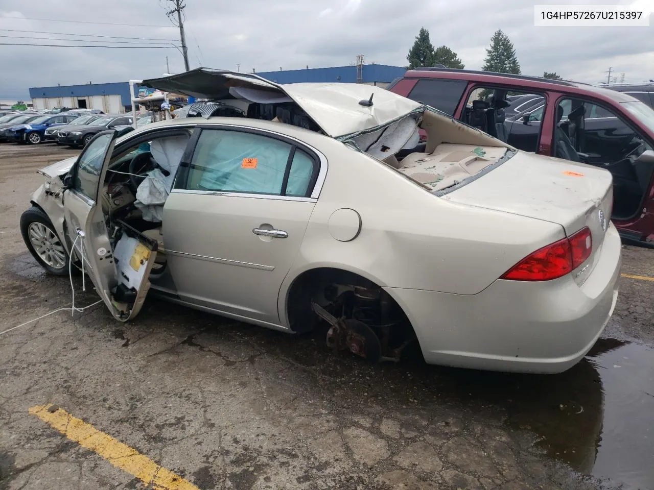
[[[304,197],[316,171],[313,157],[286,141],[205,129],[193,153],[186,189]]]

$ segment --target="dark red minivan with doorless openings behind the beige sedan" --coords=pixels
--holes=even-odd
[[[519,150],[610,171],[623,242],[654,248],[654,110],[642,101],[577,82],[447,68],[409,70],[388,90]]]

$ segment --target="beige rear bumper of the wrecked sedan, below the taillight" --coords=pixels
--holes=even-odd
[[[388,287],[409,317],[427,363],[555,373],[604,331],[617,300],[621,242],[610,225],[593,272],[546,282],[496,280],[476,295]]]

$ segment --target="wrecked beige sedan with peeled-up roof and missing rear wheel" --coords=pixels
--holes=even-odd
[[[103,131],[41,171],[21,219],[49,272],[83,257],[120,321],[149,290],[288,333],[326,325],[328,345],[371,361],[417,340],[428,363],[545,373],[613,312],[607,171],[372,86],[206,69],[143,84],[247,117]]]

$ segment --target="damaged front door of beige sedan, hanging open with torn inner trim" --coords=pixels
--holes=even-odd
[[[101,193],[115,141],[113,130],[95,135],[65,177],[63,225],[71,255],[83,261],[111,314],[128,321],[150,289],[157,242],[122,221],[108,221],[103,212]]]

